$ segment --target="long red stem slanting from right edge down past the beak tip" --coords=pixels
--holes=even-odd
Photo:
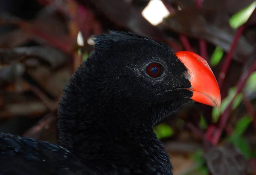
[[[244,74],[241,75],[241,77],[240,77],[240,79],[239,79],[239,81],[238,81],[238,83],[236,85],[236,87],[237,87],[236,95],[238,95],[242,91],[242,89],[243,89],[243,87],[244,87],[248,77],[254,71],[256,71],[256,62],[253,63],[253,65],[250,67],[248,72],[244,72]],[[236,95],[233,97],[233,99],[230,101],[229,105],[227,106],[226,110],[220,116],[220,125],[219,125],[219,127],[218,127],[218,129],[217,129],[217,131],[216,131],[216,133],[214,135],[214,137],[211,140],[212,144],[214,144],[214,145],[216,145],[218,143],[218,141],[220,139],[220,136],[221,136],[221,133],[222,133],[224,127],[227,124],[228,117],[230,115],[230,112],[232,111],[232,109],[231,109],[232,102],[236,98]]]

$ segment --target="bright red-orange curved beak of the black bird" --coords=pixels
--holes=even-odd
[[[219,108],[221,105],[220,89],[206,60],[189,51],[176,52],[175,55],[188,69],[191,83],[189,90],[193,92],[191,99]]]

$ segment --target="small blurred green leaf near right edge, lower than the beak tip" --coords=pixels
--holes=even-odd
[[[236,135],[242,135],[244,131],[248,128],[251,122],[252,122],[252,118],[250,116],[245,116],[240,118],[236,122],[236,126],[234,127],[233,133]]]

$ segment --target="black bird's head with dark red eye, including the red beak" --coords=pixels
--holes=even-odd
[[[192,100],[220,105],[218,83],[199,55],[174,53],[166,44],[134,33],[110,31],[94,40],[95,50],[74,77],[82,76],[76,83],[86,79],[90,89],[79,87],[82,83],[76,87],[89,92],[81,95],[104,99],[100,106],[108,104],[105,111],[151,115],[154,124]]]

